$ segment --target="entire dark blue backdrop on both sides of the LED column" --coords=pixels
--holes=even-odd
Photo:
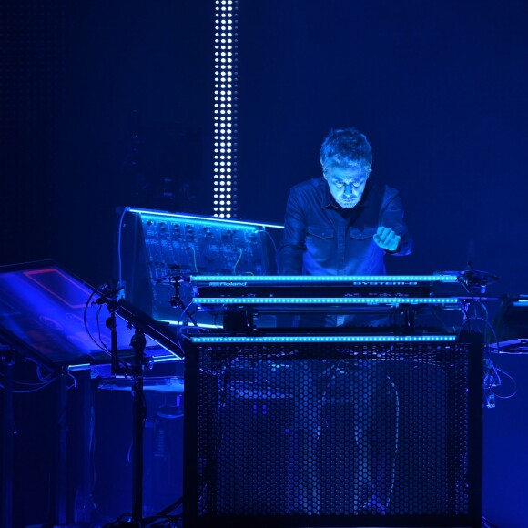
[[[99,284],[117,207],[211,213],[211,0],[0,12],[1,264]],[[500,276],[490,294],[528,292],[527,24],[523,0],[240,0],[239,218],[280,223],[330,128],[359,127],[415,239],[390,273],[471,262]],[[528,517],[527,361],[498,360],[518,392],[484,411],[483,510],[506,528]]]

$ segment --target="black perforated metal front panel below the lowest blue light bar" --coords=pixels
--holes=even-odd
[[[197,346],[186,526],[479,525],[478,355],[434,342]]]

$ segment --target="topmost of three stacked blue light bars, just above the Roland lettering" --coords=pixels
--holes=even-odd
[[[277,227],[277,226],[273,226]],[[191,282],[456,282],[456,275],[192,275]]]

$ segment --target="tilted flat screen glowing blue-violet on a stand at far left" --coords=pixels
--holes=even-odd
[[[102,311],[105,305],[108,318]],[[0,267],[0,341],[56,374],[99,369],[112,363],[112,375],[116,375],[114,367],[128,365],[136,387],[132,521],[138,523],[142,511],[143,368],[150,362],[182,360],[177,336],[126,300],[113,299],[101,289],[94,289],[54,260],[42,260]],[[6,429],[5,438],[10,435]],[[64,453],[66,425],[59,439]],[[59,523],[66,523],[65,464],[66,459],[61,457]],[[7,478],[5,475],[3,482],[9,490]],[[6,506],[4,517],[8,518],[11,505]]]

